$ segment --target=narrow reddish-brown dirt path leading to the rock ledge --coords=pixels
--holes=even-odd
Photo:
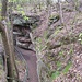
[[[28,66],[28,77],[30,77],[30,80],[27,80],[27,82],[38,82],[38,77],[37,77],[37,65],[36,65],[36,55],[34,51],[31,51],[31,50],[25,50],[25,49],[21,49],[19,48],[25,60],[27,61],[27,66]]]

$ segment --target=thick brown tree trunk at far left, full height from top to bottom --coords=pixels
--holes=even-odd
[[[8,5],[8,0],[2,0],[2,22],[0,22],[0,32],[2,35],[2,42],[7,55],[7,70],[8,70],[8,82],[13,82],[13,54],[12,54],[12,48],[11,48],[11,43],[10,43],[10,33],[9,33],[9,27],[5,24],[5,16],[7,16],[7,5]]]

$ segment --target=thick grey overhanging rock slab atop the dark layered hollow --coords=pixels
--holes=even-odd
[[[12,14],[13,25],[32,26],[34,24],[39,25],[40,17],[38,15],[22,15]]]

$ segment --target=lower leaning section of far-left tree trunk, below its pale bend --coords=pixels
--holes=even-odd
[[[8,70],[7,77],[13,78],[13,58],[12,58],[9,31],[8,31],[8,27],[3,25],[1,22],[0,22],[0,27],[4,28],[1,35],[2,35],[2,42],[3,42],[5,55],[7,55],[7,70]],[[8,82],[13,82],[13,80],[8,79]]]

